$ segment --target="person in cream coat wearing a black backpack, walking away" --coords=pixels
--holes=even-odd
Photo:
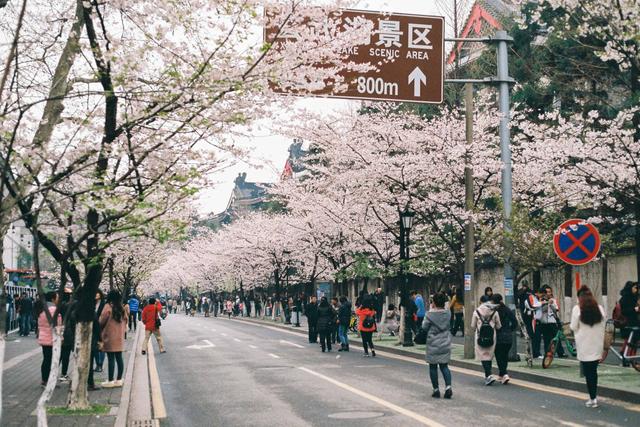
[[[482,362],[485,385],[493,384],[496,379],[491,375],[491,361],[496,349],[496,331],[502,327],[500,316],[496,314],[497,305],[491,301],[480,305],[471,318],[471,328],[476,331],[476,359]]]

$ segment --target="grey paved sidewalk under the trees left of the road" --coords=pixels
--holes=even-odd
[[[14,336],[11,336],[13,338]],[[36,426],[35,409],[43,388],[40,386],[40,364],[42,353],[34,336],[17,337],[7,341],[4,370],[3,426]],[[126,378],[129,358],[134,345],[135,335],[127,334],[126,348],[123,354]],[[72,369],[72,366],[69,367]],[[107,360],[104,371],[96,372],[96,384],[107,381]],[[59,383],[53,392],[48,407],[64,407],[67,402],[69,383]],[[91,404],[104,405],[107,412],[103,415],[48,415],[49,426],[113,426],[118,414],[123,388],[105,388],[89,392]]]

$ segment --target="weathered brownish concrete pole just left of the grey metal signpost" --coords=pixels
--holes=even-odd
[[[464,86],[465,105],[465,134],[467,145],[473,143],[473,84],[466,83]],[[465,209],[468,213],[473,211],[473,167],[469,155],[465,158],[464,168],[464,196]],[[475,287],[475,266],[474,266],[474,224],[471,218],[467,220],[464,229],[464,358],[474,357],[474,331],[471,330],[471,317],[475,310],[475,299],[473,289]]]

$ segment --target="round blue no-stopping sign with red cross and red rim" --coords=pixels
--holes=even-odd
[[[554,233],[553,249],[567,264],[584,265],[598,255],[600,233],[583,219],[570,219]]]

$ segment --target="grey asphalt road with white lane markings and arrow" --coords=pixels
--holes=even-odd
[[[163,335],[168,352],[157,360],[170,426],[640,425],[638,405],[603,399],[586,409],[582,393],[486,387],[457,368],[454,398],[432,399],[423,364],[363,358],[358,348],[322,353],[295,332],[237,320],[172,315]]]

